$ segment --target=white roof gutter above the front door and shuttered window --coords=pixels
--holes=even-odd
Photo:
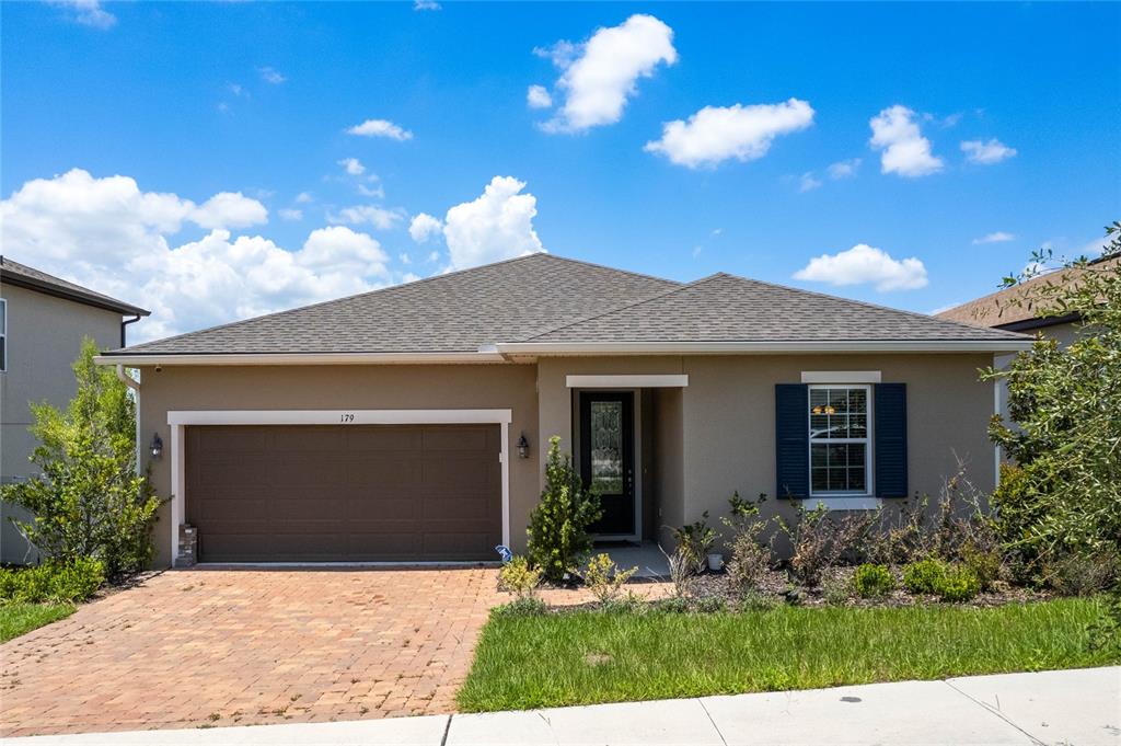
[[[507,342],[500,354],[787,354],[794,352],[1018,352],[1030,339],[791,342]]]

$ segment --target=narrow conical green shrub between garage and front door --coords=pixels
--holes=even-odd
[[[587,527],[601,515],[600,498],[584,489],[572,459],[560,453],[560,439],[549,439],[545,490],[529,516],[526,555],[549,582],[562,582],[592,550]]]

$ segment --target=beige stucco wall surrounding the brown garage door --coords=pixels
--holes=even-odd
[[[510,423],[510,538],[526,544],[529,510],[539,495],[536,458],[519,459],[521,433],[536,441],[537,394],[534,366],[288,366],[165,367],[141,370],[141,439],[159,433],[170,446],[167,413],[174,409],[490,409],[512,411]],[[170,455],[148,459],[157,494],[172,491]],[[189,495],[186,499],[191,499]],[[170,506],[156,526],[156,564],[170,563]]]

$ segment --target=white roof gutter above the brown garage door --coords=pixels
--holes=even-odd
[[[507,362],[498,352],[313,352],[313,353],[198,353],[159,354],[105,352],[93,359],[100,366],[370,366]]]

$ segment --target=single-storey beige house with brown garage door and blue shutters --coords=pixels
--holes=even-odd
[[[603,494],[604,540],[715,522],[733,490],[873,508],[936,494],[958,458],[991,489],[978,369],[1028,344],[535,254],[99,361],[141,371],[145,443],[164,445],[149,466],[174,496],[160,564],[184,524],[202,561],[464,561],[525,549],[552,435]]]

